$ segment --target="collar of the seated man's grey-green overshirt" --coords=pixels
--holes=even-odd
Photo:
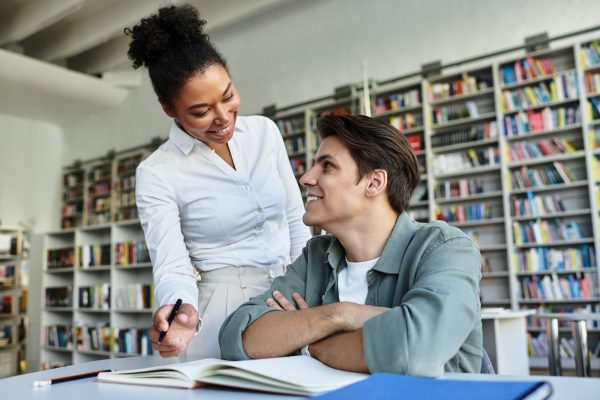
[[[381,257],[373,267],[374,270],[386,274],[398,274],[398,265],[404,256],[414,232],[418,229],[418,223],[408,216],[405,212],[398,216],[392,233],[388,238]],[[327,248],[327,261],[333,269],[337,269],[340,262],[346,255],[346,250],[336,238]]]

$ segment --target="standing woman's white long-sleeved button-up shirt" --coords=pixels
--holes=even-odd
[[[310,239],[277,125],[239,116],[228,144],[235,169],[173,123],[169,140],[137,168],[159,305],[197,304],[193,268],[287,265]]]

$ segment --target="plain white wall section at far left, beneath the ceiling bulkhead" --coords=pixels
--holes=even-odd
[[[0,220],[36,232],[60,227],[63,134],[56,125],[0,114]]]

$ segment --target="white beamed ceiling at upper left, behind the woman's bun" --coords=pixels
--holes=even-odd
[[[1,0],[0,47],[101,76],[129,67],[123,34],[165,4],[181,0]],[[284,3],[282,0],[188,0],[207,31]]]

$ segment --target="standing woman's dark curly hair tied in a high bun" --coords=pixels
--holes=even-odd
[[[189,78],[212,65],[227,70],[227,62],[202,33],[206,21],[191,5],[162,7],[133,28],[127,55],[133,68],[148,68],[158,100],[168,107]]]

